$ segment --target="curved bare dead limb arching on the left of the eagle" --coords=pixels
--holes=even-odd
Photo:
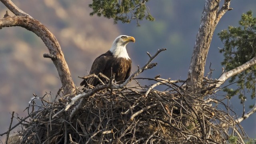
[[[73,93],[75,87],[74,82],[71,78],[68,64],[64,59],[64,54],[62,53],[60,44],[55,36],[42,23],[20,10],[10,0],[0,1],[16,15],[1,18],[0,28],[20,26],[34,32],[38,37],[40,37],[50,52],[48,56],[51,57],[47,58],[51,58],[52,62],[57,68],[64,89],[64,94]]]

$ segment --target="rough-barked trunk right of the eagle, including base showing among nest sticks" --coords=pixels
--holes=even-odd
[[[185,96],[190,105],[192,118],[184,118],[183,124],[185,127],[190,126],[191,120],[197,120],[200,122],[200,117],[197,114],[198,106],[200,104],[194,98],[203,98],[201,90],[203,88],[202,82],[204,77],[204,67],[206,63],[206,57],[212,41],[214,30],[227,10],[230,10],[230,0],[224,1],[224,6],[219,10],[220,0],[206,0],[204,10],[202,12],[201,24],[196,36],[196,43],[194,46],[190,67],[188,70],[188,79],[186,90],[188,94]],[[218,11],[219,10],[219,11]]]

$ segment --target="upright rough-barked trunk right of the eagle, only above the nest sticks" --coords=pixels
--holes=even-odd
[[[187,88],[190,92],[198,93],[202,88],[204,66],[210,48],[212,35],[227,10],[230,10],[230,0],[225,0],[224,6],[219,9],[220,0],[206,0],[202,13],[201,24],[196,36],[190,67],[188,70]]]

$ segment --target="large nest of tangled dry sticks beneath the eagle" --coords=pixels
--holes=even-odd
[[[202,100],[170,80],[155,81],[150,86],[104,89],[81,99],[82,107],[76,109],[76,102],[67,111],[71,95],[51,100],[46,94],[41,104],[35,98],[28,107],[30,119],[20,119],[18,134],[28,144],[226,143],[231,135],[244,138],[231,112],[225,112],[229,108],[217,108],[218,100]],[[171,90],[155,90],[157,85]]]

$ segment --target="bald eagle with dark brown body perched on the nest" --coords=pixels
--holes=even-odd
[[[114,40],[110,50],[94,60],[90,74],[98,75],[102,73],[108,78],[114,75],[116,82],[126,80],[130,76],[132,67],[132,60],[126,51],[126,45],[129,42],[135,42],[134,37],[125,35],[118,36]],[[80,86],[86,87],[88,84],[96,86],[100,84],[100,82],[96,78],[88,78],[87,80],[84,79],[80,83]]]

